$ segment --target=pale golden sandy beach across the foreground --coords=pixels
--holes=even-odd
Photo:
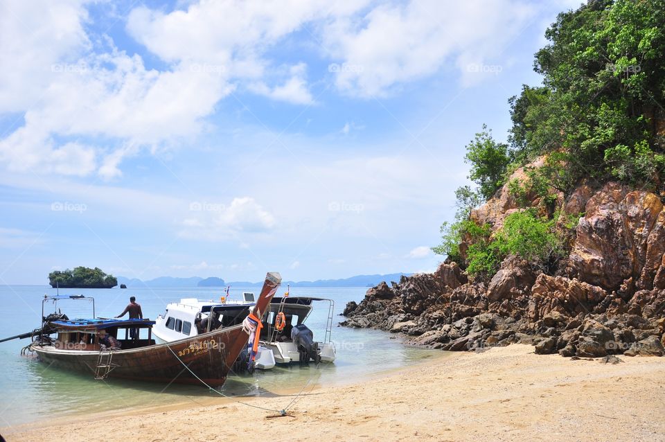
[[[665,441],[665,357],[625,363],[511,345],[306,391],[292,417],[220,398],[0,430],[13,441]],[[292,396],[249,398],[282,409]]]

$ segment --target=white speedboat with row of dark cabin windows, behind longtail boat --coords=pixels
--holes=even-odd
[[[243,293],[242,300],[226,297],[221,297],[220,301],[184,298],[166,306],[166,312],[155,319],[152,335],[159,343],[175,342],[218,328],[238,326],[255,305],[254,293],[251,292]],[[272,349],[259,346],[254,368],[269,370],[274,366]]]

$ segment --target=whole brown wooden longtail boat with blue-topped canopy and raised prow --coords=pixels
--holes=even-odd
[[[262,317],[280,283],[278,273],[266,275],[252,310],[256,317]],[[91,373],[98,379],[111,376],[184,384],[200,384],[202,380],[212,387],[219,387],[224,384],[249,339],[249,334],[239,324],[195,337],[155,344],[151,333],[153,324],[154,321],[147,319],[50,321],[46,325],[55,330],[57,339],[37,339],[30,344],[28,351],[34,351],[39,360],[50,366]],[[123,328],[125,339],[119,339],[118,330]],[[148,339],[141,339],[141,329],[146,328]],[[138,339],[127,339],[136,333],[132,329],[139,329],[135,335]],[[102,348],[99,344],[100,330],[115,335],[122,348]]]

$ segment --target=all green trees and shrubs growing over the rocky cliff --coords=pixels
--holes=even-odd
[[[580,179],[615,179],[665,195],[665,0],[589,0],[558,15],[545,36],[549,44],[534,60],[542,85],[524,85],[508,100],[508,144],[483,125],[466,146],[478,187],[458,189],[455,221],[441,226],[441,245],[432,248],[472,276],[493,274],[508,254],[547,271],[569,234],[555,227],[556,191],[565,195]],[[538,167],[526,166],[539,157]],[[519,167],[523,177],[506,183]],[[493,232],[472,220],[470,205],[504,184],[526,210]]]

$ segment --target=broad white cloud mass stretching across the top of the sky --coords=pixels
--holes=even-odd
[[[163,62],[146,67],[142,55],[94,34],[88,3],[2,3],[0,113],[19,118],[0,139],[0,161],[12,170],[121,177],[125,158],[199,133],[236,89],[310,105],[307,64],[271,58],[298,33],[332,62],[340,91],[369,97],[449,67],[460,69],[465,83],[483,78],[488,60],[533,15],[522,0],[139,6],[127,16],[127,33]],[[346,125],[342,133],[354,128]]]

